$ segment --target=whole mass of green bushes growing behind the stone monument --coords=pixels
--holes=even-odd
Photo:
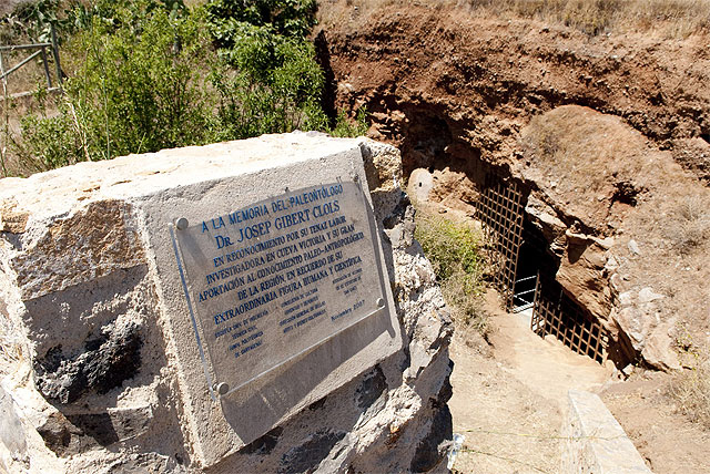
[[[65,95],[24,117],[14,152],[40,171],[327,130],[324,74],[305,38],[314,13],[311,0],[212,0],[193,10],[183,0],[74,4],[62,16],[64,31],[74,31]]]

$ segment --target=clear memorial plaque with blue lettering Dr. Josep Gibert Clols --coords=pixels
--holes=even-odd
[[[367,206],[358,183],[338,182],[175,221],[173,246],[213,396],[386,312]]]

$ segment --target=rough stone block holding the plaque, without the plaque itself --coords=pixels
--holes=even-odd
[[[357,174],[357,161],[389,275],[399,349],[381,351],[385,346],[365,341],[343,367],[301,391],[308,378],[293,367],[315,363],[310,358],[325,349],[308,352],[268,379],[291,387],[282,396],[298,398],[291,409],[270,400],[272,413],[258,416],[266,427],[236,433],[225,419],[254,413],[207,393],[186,310],[174,310],[185,305],[176,272],[168,276],[159,251],[170,239],[155,229],[172,219],[161,212],[175,203],[187,203],[181,204],[186,213],[190,203],[212,203],[219,214],[244,195],[276,189],[286,172],[297,179],[290,166],[311,176],[338,167]],[[230,186],[236,175],[253,178]],[[296,133],[1,183],[0,462],[7,471],[445,468],[450,326],[413,237],[396,148]],[[268,398],[271,385],[260,387],[257,398]],[[232,404],[245,406],[240,403]]]

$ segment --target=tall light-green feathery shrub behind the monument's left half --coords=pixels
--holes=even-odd
[[[97,20],[74,38],[72,48],[85,51],[85,61],[67,91],[93,156],[209,138],[209,104],[194,68],[209,39],[194,18],[174,20],[160,9],[143,14],[138,23],[131,21],[134,11],[120,10],[118,21],[125,28],[111,31]]]

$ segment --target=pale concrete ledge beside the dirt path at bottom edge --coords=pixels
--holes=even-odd
[[[570,390],[568,399],[561,473],[652,474],[599,396]]]

